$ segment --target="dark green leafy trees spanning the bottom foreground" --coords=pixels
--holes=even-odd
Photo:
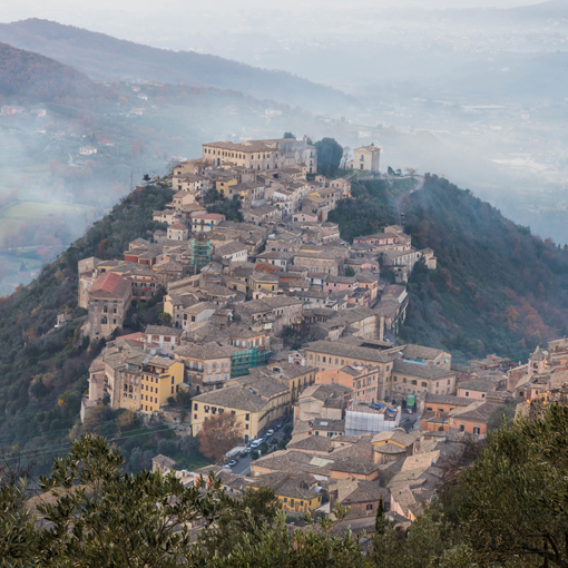
[[[517,418],[410,527],[380,509],[371,538],[339,530],[341,507],[293,530],[270,488],[235,500],[214,476],[183,487],[173,473],[124,474],[118,450],[80,438],[41,496],[27,500],[26,481],[0,486],[0,566],[566,568],[567,431],[564,405]],[[197,538],[189,523],[203,526]]]

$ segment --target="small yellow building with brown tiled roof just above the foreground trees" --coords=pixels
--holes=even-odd
[[[317,481],[311,476],[267,473],[247,483],[247,487],[255,491],[261,487],[272,487],[285,511],[309,512],[322,505],[322,496],[315,490]]]

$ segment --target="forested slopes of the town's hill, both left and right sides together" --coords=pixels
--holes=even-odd
[[[444,346],[456,361],[493,352],[519,360],[535,345],[568,334],[568,248],[541,242],[469,190],[437,176],[427,176],[422,190],[401,194],[405,189],[403,183],[353,182],[358,198],[341,202],[330,214],[350,239],[396,223],[398,199],[414,246],[435,252],[438,270],[419,264],[409,283],[403,340]],[[119,257],[130,241],[155,227],[151,210],[170,198],[169,189],[154,186],[131,193],[33,283],[0,301],[0,448],[48,448],[35,453],[40,468],[53,452],[68,449],[89,364],[102,347],[78,335],[85,311],[77,307],[77,262],[92,255]],[[139,306],[129,330],[157,322],[158,311],[155,302]],[[53,330],[62,312],[74,319]],[[174,454],[180,443],[167,440],[167,430],[148,432],[134,418],[105,407],[82,428],[121,435],[116,443],[126,442],[131,470],[147,466],[158,447],[169,444],[168,454]]]

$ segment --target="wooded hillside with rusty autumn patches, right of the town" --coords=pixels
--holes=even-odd
[[[394,200],[384,182],[354,184],[353,193],[364,200],[330,215],[344,238],[354,227],[371,234],[392,223]],[[542,242],[437,176],[404,195],[401,207],[413,245],[438,257],[437,271],[418,266],[411,277],[404,341],[444,346],[462,361],[488,353],[520,360],[568,334],[568,248]]]

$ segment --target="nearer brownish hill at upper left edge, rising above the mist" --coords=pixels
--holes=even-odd
[[[112,98],[114,94],[72,67],[0,43],[0,96],[18,102],[48,102],[66,97]]]

